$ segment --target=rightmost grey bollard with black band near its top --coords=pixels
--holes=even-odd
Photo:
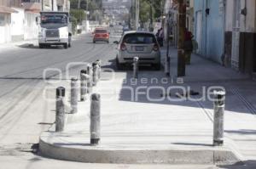
[[[224,144],[224,91],[214,91],[213,145]]]

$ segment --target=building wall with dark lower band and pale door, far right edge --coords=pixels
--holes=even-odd
[[[256,72],[256,1],[226,0],[225,63],[241,72]]]

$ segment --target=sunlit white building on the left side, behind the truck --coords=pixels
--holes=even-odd
[[[0,43],[38,38],[36,18],[42,9],[69,11],[69,8],[69,0],[0,0]]]

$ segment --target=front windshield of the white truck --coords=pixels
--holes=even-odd
[[[41,16],[42,24],[67,24],[66,14],[45,14]]]

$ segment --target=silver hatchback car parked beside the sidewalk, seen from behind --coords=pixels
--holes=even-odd
[[[139,58],[140,65],[152,65],[160,70],[160,45],[153,33],[148,31],[126,31],[118,44],[116,65],[122,70],[131,65],[134,57]]]

